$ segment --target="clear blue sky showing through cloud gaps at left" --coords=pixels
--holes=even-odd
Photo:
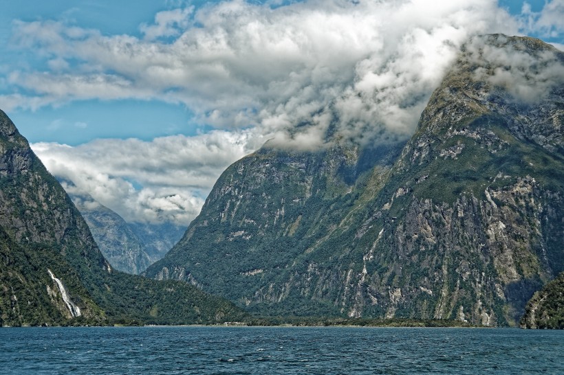
[[[0,43],[9,53],[0,56],[1,72],[21,66],[22,60],[36,69],[45,68],[45,60],[37,59],[33,51],[21,50],[10,43],[14,37],[14,20],[65,20],[80,27],[100,30],[106,35],[140,36],[139,27],[142,23],[151,23],[157,12],[172,5],[171,1],[147,0],[6,1],[0,14]],[[2,91],[10,92],[10,88],[5,87]],[[10,111],[8,114],[32,142],[56,141],[76,145],[95,138],[153,139],[177,133],[193,135],[196,130],[196,126],[189,121],[191,116],[186,106],[159,101],[86,100],[45,106],[34,111]]]

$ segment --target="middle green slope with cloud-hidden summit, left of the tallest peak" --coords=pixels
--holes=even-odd
[[[189,280],[242,306],[252,304],[249,293],[261,290],[266,279],[288,277],[288,265],[334,230],[347,213],[343,207],[380,183],[399,150],[341,144],[291,152],[267,145],[221,175],[184,238],[148,273]],[[367,170],[375,164],[374,171]],[[290,313],[296,315],[339,313],[321,302],[312,306],[299,297],[294,302]],[[272,308],[261,313],[274,313]]]

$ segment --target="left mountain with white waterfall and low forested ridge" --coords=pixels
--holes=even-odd
[[[65,190],[0,111],[0,326],[244,317],[186,283],[113,270]]]

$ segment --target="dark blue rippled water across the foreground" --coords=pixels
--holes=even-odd
[[[564,374],[564,332],[1,328],[1,374]]]

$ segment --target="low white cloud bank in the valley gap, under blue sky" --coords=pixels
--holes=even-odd
[[[150,142],[103,139],[76,147],[36,143],[32,148],[69,194],[91,196],[129,222],[188,225],[219,174],[248,154],[248,145],[256,146],[252,137],[248,131],[215,130]],[[83,203],[95,204],[89,199]]]

